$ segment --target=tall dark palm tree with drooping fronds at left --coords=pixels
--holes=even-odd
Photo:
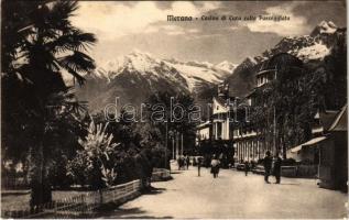
[[[26,150],[23,145],[30,150],[33,207],[51,200],[45,133],[53,118],[63,111],[72,113],[67,109],[79,106],[66,96],[69,87],[63,74],[84,84],[84,75],[95,68],[86,51],[96,37],[72,25],[76,1],[6,1],[2,7],[3,141],[8,148],[15,143],[22,152]],[[23,135],[22,143],[13,141],[17,134]]]

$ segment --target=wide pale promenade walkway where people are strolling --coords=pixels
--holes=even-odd
[[[314,179],[282,178],[221,169],[174,170],[173,180],[153,183],[156,191],[124,204],[106,218],[343,218],[347,194],[321,189]],[[274,182],[274,178],[271,178]]]

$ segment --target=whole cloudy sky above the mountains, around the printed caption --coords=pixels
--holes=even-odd
[[[193,16],[170,22],[167,15]],[[287,21],[201,21],[203,15],[284,15]],[[345,1],[80,1],[74,25],[95,33],[97,64],[132,51],[159,58],[239,64],[285,36],[309,34],[321,21],[346,24]]]

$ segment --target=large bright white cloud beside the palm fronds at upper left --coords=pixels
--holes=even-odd
[[[166,21],[167,15],[193,15],[217,9],[219,2],[205,2],[200,6],[193,2],[173,2],[167,9],[160,9],[153,1],[123,4],[112,1],[83,1],[72,19],[74,25],[98,34],[99,38],[112,40],[116,37],[165,31],[175,35],[184,34],[183,28],[164,29],[156,22]],[[174,25],[175,26],[175,25]]]

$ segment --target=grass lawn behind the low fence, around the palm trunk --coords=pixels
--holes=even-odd
[[[54,190],[53,200],[87,194],[83,190]],[[30,190],[11,190],[1,193],[1,210],[29,209]]]

